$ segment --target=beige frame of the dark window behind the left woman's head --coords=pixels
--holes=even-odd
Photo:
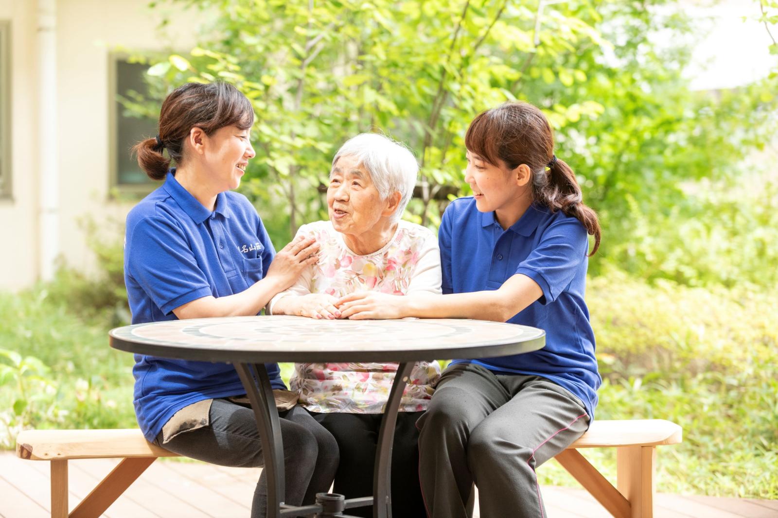
[[[150,54],[150,52],[149,52]],[[121,184],[119,182],[119,168],[117,159],[119,149],[117,139],[117,123],[119,120],[119,107],[116,100],[119,86],[118,68],[119,61],[127,61],[131,54],[128,52],[108,53],[108,171],[109,171],[109,198],[143,198],[154,191],[160,183],[149,179],[145,184]]]

